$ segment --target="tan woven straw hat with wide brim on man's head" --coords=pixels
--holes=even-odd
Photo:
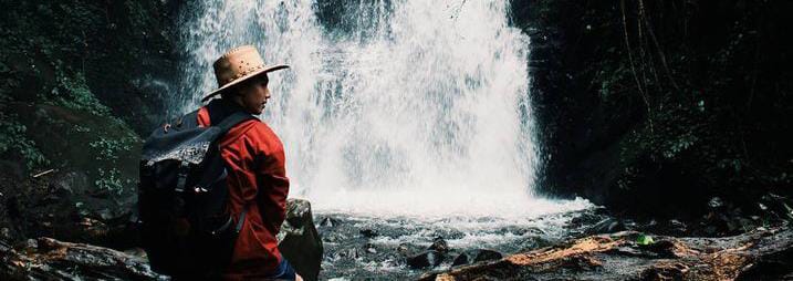
[[[218,89],[204,96],[201,102],[206,102],[242,81],[271,71],[283,70],[289,65],[267,65],[254,46],[243,45],[231,49],[220,56],[215,61],[212,67],[215,67],[215,77],[218,79]]]

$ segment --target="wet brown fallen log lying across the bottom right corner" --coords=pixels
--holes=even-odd
[[[724,238],[591,236],[420,280],[778,280],[793,278],[793,229]]]

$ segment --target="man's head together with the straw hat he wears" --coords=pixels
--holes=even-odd
[[[201,98],[202,102],[222,94],[223,98],[234,101],[251,114],[261,114],[264,103],[270,98],[267,73],[289,65],[267,65],[254,46],[243,45],[220,56],[212,67],[218,89]]]

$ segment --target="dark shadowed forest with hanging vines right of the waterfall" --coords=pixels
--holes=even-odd
[[[513,1],[533,40],[540,187],[719,226],[706,235],[790,219],[791,11],[790,1]]]

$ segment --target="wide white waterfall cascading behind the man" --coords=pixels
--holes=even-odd
[[[316,9],[337,14],[321,22]],[[377,216],[536,216],[529,39],[508,1],[207,0],[182,14],[175,106],[217,87],[211,63],[254,44],[273,93],[262,119],[286,150],[292,194]]]

